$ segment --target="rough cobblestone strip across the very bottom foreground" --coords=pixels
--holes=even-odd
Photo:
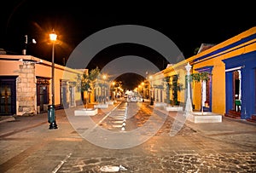
[[[104,165],[123,165],[128,172],[255,172],[256,153],[176,154],[127,158],[71,158],[58,172],[101,172]]]

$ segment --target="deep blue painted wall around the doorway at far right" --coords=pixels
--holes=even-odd
[[[256,114],[256,51],[238,55],[224,60],[225,68],[231,69],[241,66],[241,119],[251,118]],[[226,112],[232,109],[232,71],[226,72]]]

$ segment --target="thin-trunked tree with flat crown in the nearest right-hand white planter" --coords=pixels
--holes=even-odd
[[[212,73],[210,72],[198,72],[193,73],[189,76],[189,81],[195,81],[196,83],[201,83],[201,113],[203,114],[203,82],[208,81],[212,76]],[[187,76],[186,76],[187,77]]]

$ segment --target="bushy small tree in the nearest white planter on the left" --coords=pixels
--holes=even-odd
[[[94,89],[94,84],[97,76],[100,74],[100,69],[98,67],[91,69],[90,72],[83,73],[83,76],[81,78],[81,92],[84,93],[86,91],[86,95],[90,93],[92,89]],[[88,97],[85,98],[85,105],[87,109],[87,103],[88,103]]]

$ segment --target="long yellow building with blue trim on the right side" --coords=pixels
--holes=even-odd
[[[207,82],[191,83],[195,110],[200,111],[203,107],[205,111],[241,119],[250,119],[256,114],[256,27],[154,74],[155,101],[170,99],[173,103],[177,99],[177,103],[184,107],[187,98],[185,66],[188,62],[192,66],[190,73],[212,74]],[[183,89],[173,91],[172,83],[181,84],[178,86]],[[175,99],[173,92],[177,94]]]

